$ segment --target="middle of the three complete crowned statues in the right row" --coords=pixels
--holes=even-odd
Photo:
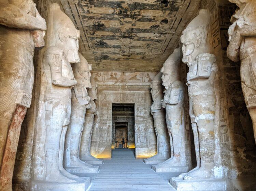
[[[166,122],[170,136],[171,158],[153,165],[156,172],[186,172],[185,123],[184,123],[184,87],[179,81],[180,50],[175,49],[164,63],[162,84],[165,97],[162,106],[166,108]]]

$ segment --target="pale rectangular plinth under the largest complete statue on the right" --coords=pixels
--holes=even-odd
[[[224,179],[184,180],[171,178],[170,183],[176,190],[182,191],[226,191],[227,183]]]

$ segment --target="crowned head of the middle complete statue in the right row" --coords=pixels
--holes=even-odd
[[[165,89],[168,89],[170,84],[178,79],[179,73],[178,68],[180,64],[180,50],[176,48],[173,53],[167,58],[161,69],[162,74],[162,85]]]

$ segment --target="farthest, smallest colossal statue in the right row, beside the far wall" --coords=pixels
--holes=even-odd
[[[165,120],[165,111],[162,108],[163,86],[162,72],[159,72],[151,82],[151,94],[153,103],[151,105],[151,114],[154,118],[154,127],[157,137],[157,155],[144,159],[146,164],[158,164],[170,157],[170,139],[167,135],[167,126]]]

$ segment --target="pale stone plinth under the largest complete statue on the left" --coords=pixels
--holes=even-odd
[[[75,183],[59,183],[33,180],[31,191],[86,191],[90,186],[90,178],[86,178]]]

